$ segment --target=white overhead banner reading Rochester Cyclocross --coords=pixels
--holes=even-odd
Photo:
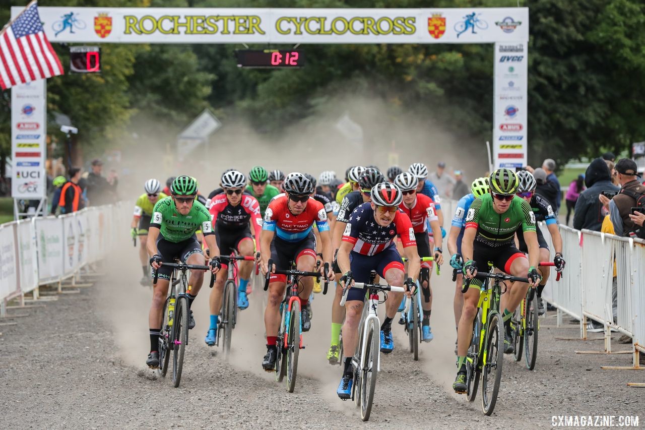
[[[22,8],[12,7],[12,16]],[[528,8],[41,7],[52,43],[526,44]],[[510,48],[511,49],[511,48]],[[516,56],[517,50],[504,54]],[[521,55],[521,54],[519,54]],[[23,102],[25,100],[23,99]]]

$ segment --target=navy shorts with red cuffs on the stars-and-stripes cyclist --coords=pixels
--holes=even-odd
[[[385,272],[390,269],[405,271],[401,261],[401,254],[395,245],[384,249],[375,255],[363,255],[358,252],[350,252],[350,268],[355,282],[370,282],[370,273],[374,270],[385,279]],[[351,300],[365,300],[365,290],[362,288],[350,288],[347,293],[347,302]]]

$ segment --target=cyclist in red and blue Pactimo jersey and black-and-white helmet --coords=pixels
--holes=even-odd
[[[303,174],[293,172],[284,179],[284,190],[287,195],[269,203],[264,214],[263,231],[260,237],[264,274],[268,271],[274,272],[275,269],[289,269],[290,261],[295,262],[299,271],[313,271],[316,263],[313,223],[316,223],[321,236],[323,261],[332,260],[327,214],[323,204],[310,197],[313,192],[311,181]],[[268,267],[269,258],[273,260],[273,267]],[[320,271],[321,273],[324,271],[323,265]],[[285,286],[286,276],[275,273],[271,275],[268,303],[264,311],[267,351],[262,367],[267,372],[275,371],[277,332],[280,326],[279,307],[283,300]],[[299,290],[303,331],[309,331],[311,327],[306,305],[309,303],[312,289],[313,279],[304,278],[302,290]]]

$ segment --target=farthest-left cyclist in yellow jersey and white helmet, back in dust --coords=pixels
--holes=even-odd
[[[139,283],[145,286],[150,283],[150,269],[146,261],[148,260],[146,239],[148,238],[148,226],[152,220],[152,209],[157,201],[168,196],[161,192],[161,183],[157,179],[148,179],[143,185],[143,189],[145,192],[139,196],[134,205],[130,234],[133,239],[139,236],[139,260],[141,260],[141,268],[143,269],[143,278]]]

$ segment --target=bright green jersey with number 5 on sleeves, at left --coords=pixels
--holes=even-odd
[[[152,209],[150,227],[157,227],[165,240],[175,243],[188,240],[197,230],[202,230],[204,236],[213,234],[210,214],[204,205],[195,200],[190,212],[182,215],[172,197],[157,201]]]

